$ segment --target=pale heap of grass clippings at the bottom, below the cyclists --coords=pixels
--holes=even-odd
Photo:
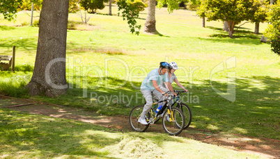
[[[106,147],[117,158],[165,158],[164,151],[157,144],[140,137],[123,137],[114,146]]]

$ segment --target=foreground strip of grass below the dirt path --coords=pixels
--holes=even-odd
[[[0,158],[260,158],[184,137],[120,133],[3,108],[0,149]]]

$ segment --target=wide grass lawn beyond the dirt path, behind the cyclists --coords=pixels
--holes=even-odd
[[[222,31],[222,22],[206,22],[206,28],[202,28],[195,12],[175,10],[169,15],[162,8],[156,10],[160,35],[141,32],[137,36],[129,33],[122,17],[116,16],[116,7],[114,16],[104,15],[107,10],[91,15],[88,26],[79,24],[77,13],[70,13],[69,21],[80,29],[68,31],[67,78],[72,88],[56,99],[29,97],[22,89],[32,76],[38,27],[18,27],[29,22],[30,17],[23,12],[18,13],[15,23],[0,17],[0,55],[10,55],[15,45],[17,56],[15,74],[0,72],[0,93],[84,107],[100,114],[129,115],[133,106],[144,103],[137,98],[141,97],[137,87],[146,74],[161,61],[176,61],[180,67],[176,75],[189,89],[185,99],[189,97],[192,108],[192,128],[280,139],[279,56],[272,53],[270,44],[260,43],[262,35],[254,35],[254,24],[245,24],[231,39]],[[137,20],[142,28],[146,14],[146,10],[141,12]],[[260,33],[266,26],[260,24]],[[84,29],[90,31],[81,31]],[[235,59],[229,63],[235,67],[224,69],[230,66],[227,59]],[[221,72],[213,74],[210,81],[217,67]],[[228,72],[236,77],[234,102],[213,90],[215,87],[226,92]],[[90,98],[95,94],[100,97],[98,103]],[[132,101],[114,100],[123,94],[132,97]]]

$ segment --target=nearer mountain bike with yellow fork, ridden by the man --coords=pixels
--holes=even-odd
[[[164,131],[166,131],[166,133],[169,133],[169,135],[178,135],[182,132],[185,127],[185,116],[182,110],[172,107],[169,104],[169,101],[173,99],[173,94],[171,92],[166,92],[165,94],[167,94],[168,97],[162,101],[153,103],[152,108],[146,115],[146,122],[148,123],[147,125],[143,125],[138,122],[138,119],[143,112],[144,106],[135,106],[134,108],[132,108],[130,112],[130,126],[134,131],[146,131],[150,124],[154,124],[156,120],[160,119],[160,114],[163,113],[162,126],[164,128]],[[159,112],[155,113],[158,103],[162,103],[164,101],[166,101],[166,103],[164,104],[162,109]]]

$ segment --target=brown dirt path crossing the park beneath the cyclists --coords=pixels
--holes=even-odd
[[[11,107],[12,110],[29,112],[31,114],[46,115],[64,119],[74,119],[81,122],[98,124],[107,128],[116,128],[118,131],[132,131],[126,116],[106,116],[96,112],[85,111],[78,108],[68,108],[65,106],[52,106],[47,103],[36,103],[29,106],[18,106],[26,103],[34,103],[24,99],[10,99],[0,96],[0,108]],[[165,133],[162,124],[151,125],[146,132]],[[213,134],[208,131],[187,128],[180,133],[182,137],[188,137],[201,142],[216,144],[236,151],[255,153],[264,158],[280,158],[280,141],[265,138],[249,137],[237,134]]]

